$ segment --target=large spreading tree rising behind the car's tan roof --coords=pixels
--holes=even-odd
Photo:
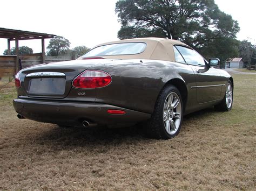
[[[116,13],[122,24],[118,31],[120,39],[177,39],[207,57],[214,56],[212,53],[215,54],[215,50],[222,53],[218,48],[225,50],[225,58],[238,53],[237,49],[233,49],[237,47],[235,36],[240,30],[238,22],[221,12],[214,0],[118,1]],[[207,51],[206,47],[211,49]]]

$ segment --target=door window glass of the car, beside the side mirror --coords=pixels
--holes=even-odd
[[[184,47],[184,46],[175,46],[181,55],[183,55],[183,58],[185,61],[191,65],[198,65],[198,66],[205,66],[205,60],[203,56],[201,56],[199,53],[194,51],[193,49]]]

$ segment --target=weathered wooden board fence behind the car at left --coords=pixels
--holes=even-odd
[[[15,74],[17,56],[0,56],[0,80],[4,76],[13,76]],[[23,54],[19,55],[22,68],[39,65],[42,63],[42,54]],[[45,56],[45,62],[59,62],[75,60],[72,56]]]

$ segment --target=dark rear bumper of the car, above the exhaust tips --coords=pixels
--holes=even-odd
[[[17,98],[14,108],[24,118],[34,121],[80,125],[82,121],[97,124],[125,124],[146,121],[151,117],[144,112],[129,110],[113,105],[92,102],[61,102],[45,100],[27,100]],[[113,115],[109,109],[124,110],[126,114]]]

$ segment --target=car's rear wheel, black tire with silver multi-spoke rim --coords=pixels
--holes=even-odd
[[[170,114],[169,109],[165,105],[167,102],[167,99],[169,99],[170,98],[169,96],[171,95],[173,95],[172,97],[173,102],[171,102],[170,105],[172,105],[176,100],[179,101],[176,108],[173,107],[173,109],[171,109],[172,114]],[[167,102],[167,105],[168,105],[168,102]],[[178,111],[181,113],[180,115],[178,115]],[[168,115],[167,116],[168,120],[166,120],[164,115],[165,116]],[[171,116],[171,122],[169,120],[170,116]],[[167,86],[163,90],[161,90],[158,96],[158,99],[156,101],[151,119],[145,124],[144,128],[147,135],[149,135],[150,137],[157,138],[157,139],[170,139],[178,135],[181,128],[182,120],[183,120],[183,101],[181,99],[179,90],[174,86]],[[169,123],[169,128],[170,128],[169,132],[167,132],[166,130],[166,129],[169,129],[167,128],[168,125],[166,125],[166,122],[167,124]],[[174,126],[176,128],[173,128],[172,122],[174,122]],[[176,125],[176,123],[178,125]],[[171,131],[172,128],[176,130]]]

